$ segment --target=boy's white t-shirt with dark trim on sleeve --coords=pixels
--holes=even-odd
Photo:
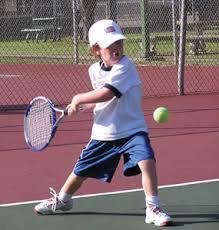
[[[97,103],[91,139],[117,140],[148,128],[141,109],[141,80],[134,63],[123,56],[112,68],[104,68],[101,61],[89,68],[94,89],[110,88],[115,97]]]

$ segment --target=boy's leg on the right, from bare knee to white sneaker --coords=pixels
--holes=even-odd
[[[155,160],[143,160],[138,165],[142,172],[142,186],[145,193],[145,222],[154,223],[157,226],[170,225],[172,222],[170,216],[160,208]]]

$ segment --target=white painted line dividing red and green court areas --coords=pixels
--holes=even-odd
[[[211,182],[219,182],[219,179],[193,181],[193,182],[180,183],[180,184],[171,184],[171,185],[162,185],[162,186],[159,186],[158,188],[163,189],[163,188],[172,188],[172,187],[183,187],[183,186],[188,186],[188,185],[204,184],[204,183],[211,183]],[[116,191],[116,192],[106,192],[106,193],[96,193],[96,194],[88,194],[88,195],[78,195],[78,196],[73,196],[72,198],[73,199],[78,199],[78,198],[114,195],[114,194],[131,193],[131,192],[139,192],[139,191],[143,191],[143,189],[138,188],[138,189],[131,189],[131,190]],[[26,202],[0,204],[0,207],[10,207],[10,206],[25,205],[25,204],[34,204],[34,203],[40,203],[42,201],[43,200],[34,200],[34,201],[26,201]]]

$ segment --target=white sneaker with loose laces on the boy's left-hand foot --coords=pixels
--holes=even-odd
[[[58,198],[58,194],[53,188],[49,188],[50,193],[53,195],[48,200],[41,202],[34,207],[34,211],[42,215],[50,215],[56,212],[56,210],[68,211],[73,207],[73,200],[63,202]]]

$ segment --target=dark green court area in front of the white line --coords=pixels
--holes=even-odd
[[[171,229],[219,229],[219,181],[160,188],[162,206],[173,217]],[[144,224],[142,191],[76,198],[70,212],[35,214],[35,204],[0,208],[1,230],[157,229]]]

